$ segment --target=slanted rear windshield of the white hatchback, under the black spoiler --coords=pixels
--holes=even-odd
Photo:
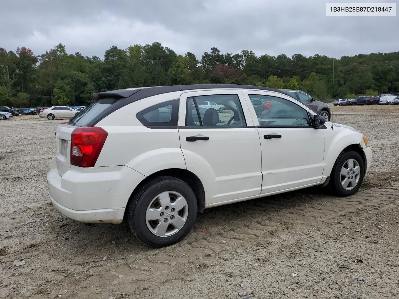
[[[119,98],[100,98],[87,106],[87,108],[75,114],[75,116],[69,120],[68,124],[78,127],[87,126],[87,124],[94,120],[101,112],[118,100]]]

